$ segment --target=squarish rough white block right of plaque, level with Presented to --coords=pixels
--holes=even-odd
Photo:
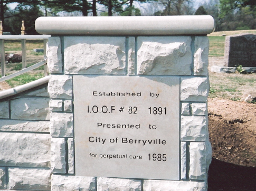
[[[182,141],[205,141],[207,137],[206,117],[182,116],[181,117]]]

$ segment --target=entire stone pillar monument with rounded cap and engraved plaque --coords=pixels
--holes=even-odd
[[[51,190],[207,190],[211,16],[40,17]]]

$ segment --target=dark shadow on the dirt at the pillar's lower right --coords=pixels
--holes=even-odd
[[[208,191],[253,191],[255,188],[256,167],[234,165],[212,158],[208,171]]]

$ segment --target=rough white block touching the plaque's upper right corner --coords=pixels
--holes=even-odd
[[[209,88],[206,77],[181,78],[181,101],[207,101]]]

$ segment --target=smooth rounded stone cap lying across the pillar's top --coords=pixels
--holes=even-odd
[[[39,17],[40,34],[64,35],[174,35],[210,34],[214,19],[210,15],[182,16],[62,16]]]

